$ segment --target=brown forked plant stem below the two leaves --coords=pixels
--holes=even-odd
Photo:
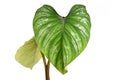
[[[42,58],[43,58],[43,63],[44,63],[44,69],[45,69],[45,77],[46,80],[50,80],[50,61],[48,60],[47,64],[46,64],[46,59],[43,53],[42,54]]]

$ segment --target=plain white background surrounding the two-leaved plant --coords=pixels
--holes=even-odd
[[[120,80],[119,0],[0,0],[0,80],[45,80],[42,60],[30,70],[14,58],[33,36],[32,20],[43,4],[53,6],[61,16],[74,4],[84,4],[92,22],[85,51],[65,75],[51,65],[51,80]]]

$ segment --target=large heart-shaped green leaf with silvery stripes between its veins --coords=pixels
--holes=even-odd
[[[61,17],[49,5],[36,11],[33,20],[35,40],[39,49],[61,72],[86,47],[90,38],[90,17],[84,5],[74,5]]]

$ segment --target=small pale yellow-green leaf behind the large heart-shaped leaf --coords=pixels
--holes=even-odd
[[[33,66],[40,60],[41,53],[35,39],[32,38],[21,46],[15,55],[15,59],[25,67],[33,68]]]

